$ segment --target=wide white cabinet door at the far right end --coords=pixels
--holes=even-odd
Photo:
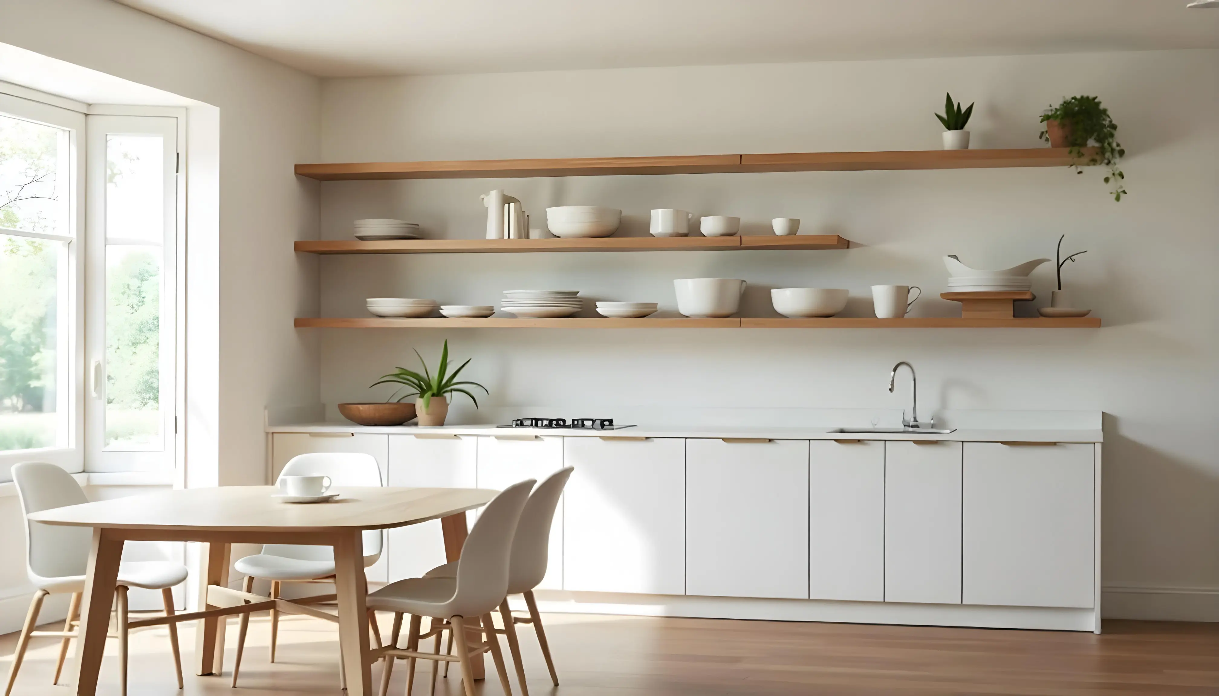
[[[965,442],[967,605],[1092,607],[1093,447]]]

